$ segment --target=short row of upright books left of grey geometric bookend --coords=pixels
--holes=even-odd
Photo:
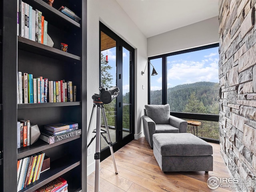
[[[30,146],[30,120],[17,121],[17,148]]]

